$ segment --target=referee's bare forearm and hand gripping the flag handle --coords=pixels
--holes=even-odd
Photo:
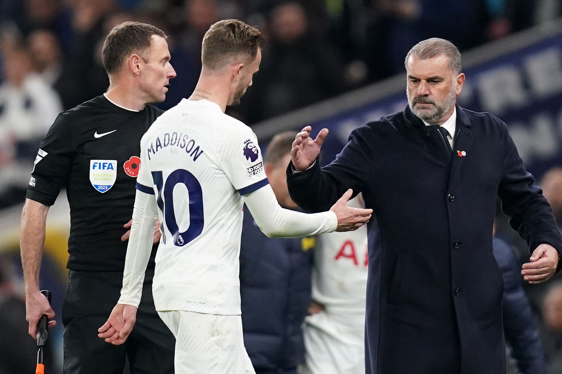
[[[25,319],[29,322],[29,335],[37,335],[37,322],[42,315],[49,320],[55,317],[47,298],[39,292],[39,268],[45,242],[45,224],[49,206],[25,199],[21,213],[20,250],[21,264],[24,269],[25,284]],[[49,322],[49,327],[55,325]]]

